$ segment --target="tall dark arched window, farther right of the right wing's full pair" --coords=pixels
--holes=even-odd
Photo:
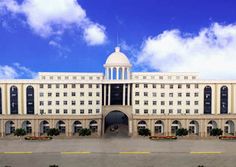
[[[220,113],[228,113],[228,88],[226,86],[222,86],[220,89]]]

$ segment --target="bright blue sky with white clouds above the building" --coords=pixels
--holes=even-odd
[[[118,34],[133,71],[232,79],[235,9],[235,0],[0,0],[0,78],[103,72]]]

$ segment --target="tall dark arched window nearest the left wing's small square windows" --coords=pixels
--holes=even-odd
[[[26,107],[27,114],[34,114],[34,88],[32,86],[26,88]]]

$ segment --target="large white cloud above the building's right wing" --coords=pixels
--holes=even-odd
[[[212,24],[197,35],[166,30],[148,37],[136,63],[164,72],[199,72],[200,78],[236,78],[236,24]]]

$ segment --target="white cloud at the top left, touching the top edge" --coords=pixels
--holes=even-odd
[[[76,0],[2,0],[0,8],[25,16],[29,27],[41,37],[62,35],[76,28],[83,31],[88,45],[100,45],[106,39],[104,26],[92,22]]]

